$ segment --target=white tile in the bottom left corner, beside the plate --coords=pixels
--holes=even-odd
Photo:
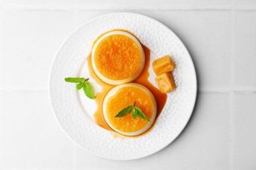
[[[47,92],[0,92],[0,169],[71,169],[72,141]]]

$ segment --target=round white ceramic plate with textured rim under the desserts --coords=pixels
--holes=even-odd
[[[112,29],[127,29],[150,48],[150,62],[169,54],[176,64],[177,84],[155,126],[140,137],[117,137],[95,124],[95,101],[64,82],[68,76],[89,76],[86,58],[95,39]],[[150,65],[152,66],[152,64]],[[154,82],[150,67],[150,82]],[[96,92],[100,86],[96,87]],[[160,22],[132,13],[99,16],[78,27],[58,50],[49,77],[49,96],[56,120],[65,133],[91,154],[112,160],[133,160],[158,152],[170,144],[186,126],[196,101],[196,73],[190,54],[181,40]]]

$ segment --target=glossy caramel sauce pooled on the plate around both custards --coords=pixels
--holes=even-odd
[[[114,29],[112,31],[118,31],[120,29]],[[121,29],[121,31],[126,31]],[[108,31],[109,32],[109,31]],[[130,33],[129,31],[127,31],[128,33]],[[130,33],[131,35],[133,35],[133,33]],[[102,34],[103,35],[103,34]],[[100,37],[102,36],[100,35]],[[135,36],[135,35],[133,35]],[[98,37],[98,39],[100,38]],[[135,36],[136,37],[136,36]],[[137,38],[137,37],[136,37]],[[138,39],[139,41],[139,39]],[[96,42],[96,41],[95,41]],[[142,44],[140,42],[140,44]],[[142,70],[142,73],[139,75],[138,78],[136,78],[135,80],[133,80],[133,82],[142,84],[143,86],[145,86],[146,88],[148,88],[148,90],[150,90],[150,92],[153,93],[155,99],[156,99],[156,103],[158,105],[158,109],[157,109],[157,114],[156,114],[156,119],[154,121],[154,124],[156,123],[156,120],[158,118],[158,116],[160,116],[161,114],[161,110],[163,110],[163,107],[165,106],[166,100],[167,100],[167,94],[165,93],[161,93],[160,90],[158,90],[158,88],[156,88],[155,86],[153,86],[149,81],[148,81],[148,77],[150,75],[148,68],[150,67],[150,49],[147,48],[146,46],[144,46],[142,44],[142,48],[144,50],[144,54],[145,54],[145,65],[144,65],[144,69]],[[98,124],[98,126],[103,127],[104,129],[107,129],[109,131],[114,131],[113,129],[110,128],[110,126],[108,126],[108,124],[106,123],[106,120],[104,119],[103,116],[103,110],[102,110],[102,105],[103,105],[103,101],[104,101],[104,97],[106,96],[106,94],[110,91],[111,88],[113,88],[113,85],[110,84],[106,84],[105,82],[103,82],[102,80],[100,80],[100,78],[98,78],[98,76],[96,76],[95,72],[93,71],[93,67],[91,65],[91,54],[88,56],[87,58],[88,61],[88,67],[89,67],[89,73],[91,75],[91,78],[93,78],[98,84],[100,84],[100,86],[102,86],[102,91],[96,94],[95,97],[95,102],[97,105],[94,117],[95,117],[95,122],[96,124]],[[150,129],[152,129],[152,127],[154,126],[154,124],[147,130],[149,131]],[[146,131],[146,132],[147,132]],[[146,133],[144,132],[144,133]],[[144,133],[140,134],[143,135]]]

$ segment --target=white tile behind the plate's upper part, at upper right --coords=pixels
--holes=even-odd
[[[95,16],[117,12],[80,11],[77,25]],[[150,16],[172,29],[190,52],[198,85],[202,89],[230,88],[230,12],[225,10],[135,10]]]

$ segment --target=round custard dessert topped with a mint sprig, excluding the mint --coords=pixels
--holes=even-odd
[[[139,116],[132,118],[132,111],[123,117],[115,118],[119,111],[134,103],[150,122]],[[156,118],[157,105],[154,95],[146,87],[137,83],[127,83],[116,86],[108,92],[102,109],[108,126],[123,135],[135,136],[152,126]]]

